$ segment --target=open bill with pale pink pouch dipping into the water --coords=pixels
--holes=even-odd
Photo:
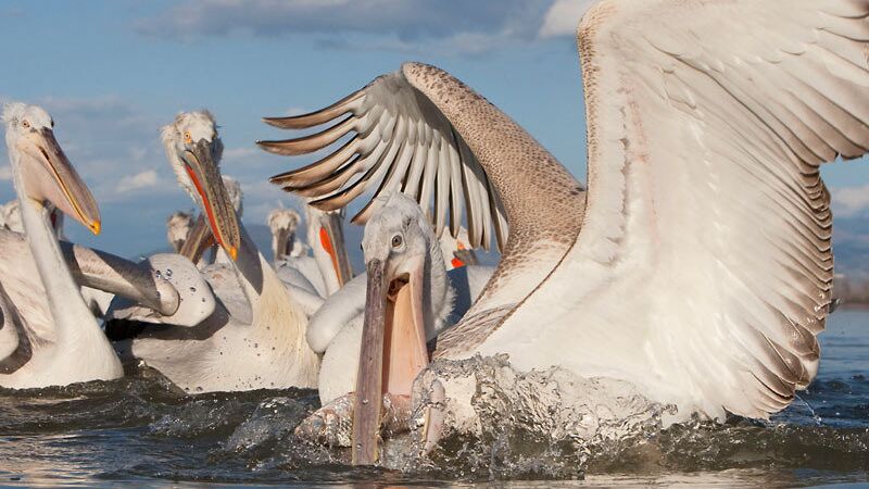
[[[368,262],[356,396],[353,405],[353,464],[379,459],[382,398],[410,398],[414,379],[429,363],[423,316],[423,262],[388,277],[388,263]]]

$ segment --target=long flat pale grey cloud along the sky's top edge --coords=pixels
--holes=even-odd
[[[206,36],[322,34],[324,48],[478,52],[532,41],[552,0],[186,0],[139,20],[144,35],[190,40]],[[355,37],[354,37],[355,36]],[[363,36],[363,39],[357,39]]]

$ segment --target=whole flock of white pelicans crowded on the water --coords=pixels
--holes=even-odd
[[[360,464],[434,359],[617,378],[675,421],[784,409],[817,373],[831,304],[819,167],[869,149],[869,3],[602,0],[578,46],[588,187],[426,64],[264,118],[325,126],[264,150],[327,154],[272,178],[307,226],[305,243],[298,212],[268,216],[274,263],[221,175],[211,113],[162,128],[199,214],[169,218],[174,253],[133,263],[62,240],[63,215],[100,233],[97,202],[49,114],[8,104],[20,204],[0,213],[0,386],[114,379],[131,358],[190,393],[318,388],[323,409],[349,406]],[[341,226],[363,196],[354,276]],[[476,266],[492,241],[499,265]]]

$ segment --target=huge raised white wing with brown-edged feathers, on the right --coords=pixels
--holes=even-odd
[[[491,349],[569,355],[716,417],[788,405],[830,305],[819,165],[869,148],[867,15],[866,0],[592,9],[583,228]]]

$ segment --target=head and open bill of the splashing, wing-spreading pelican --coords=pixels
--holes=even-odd
[[[440,302],[431,297],[431,271],[443,268],[440,244],[419,205],[400,192],[382,200],[362,241],[368,283],[353,447],[363,451],[376,447],[377,431],[358,434],[356,427],[379,424],[381,392],[408,398],[414,379],[428,365],[426,336],[433,324],[427,322],[434,321],[432,301]]]

